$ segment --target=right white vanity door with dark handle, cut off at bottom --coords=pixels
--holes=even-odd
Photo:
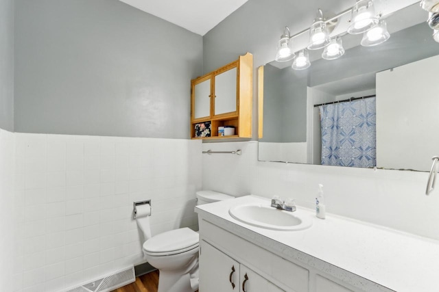
[[[239,269],[239,274],[241,274],[241,280],[239,281],[241,292],[282,292],[283,290],[267,279],[262,278],[259,274],[241,265]]]

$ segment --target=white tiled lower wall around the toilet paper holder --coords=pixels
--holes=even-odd
[[[152,200],[153,235],[198,228],[193,207],[202,184],[201,149],[190,140],[0,131],[0,178],[8,181],[1,184],[1,215],[18,225],[15,240],[6,242],[10,249],[15,245],[14,257],[5,252],[9,260],[3,262],[1,254],[5,280],[15,282],[8,291],[59,291],[142,263],[132,220],[136,200]],[[14,160],[15,184],[8,174],[14,174],[8,172]],[[15,208],[6,208],[12,203],[3,200],[12,200],[14,185]],[[1,230],[11,233],[5,222]],[[6,267],[12,262],[13,271]]]

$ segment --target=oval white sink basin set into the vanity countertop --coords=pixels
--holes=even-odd
[[[242,204],[231,207],[228,213],[241,222],[253,226],[271,229],[294,231],[311,227],[312,220],[308,215],[278,210],[262,204]]]

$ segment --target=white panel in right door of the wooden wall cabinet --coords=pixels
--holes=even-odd
[[[237,68],[215,76],[215,116],[237,111]]]

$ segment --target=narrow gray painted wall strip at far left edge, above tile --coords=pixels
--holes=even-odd
[[[14,0],[0,0],[0,128],[14,131]]]

